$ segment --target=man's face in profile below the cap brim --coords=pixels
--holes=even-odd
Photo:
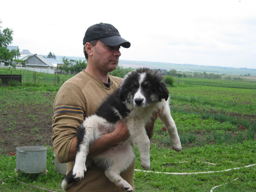
[[[111,72],[116,69],[121,53],[119,51],[120,45],[109,46],[101,41],[93,46],[93,60],[98,69],[104,72]]]

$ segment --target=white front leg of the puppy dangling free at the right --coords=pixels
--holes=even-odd
[[[163,124],[165,124],[165,127],[169,133],[172,148],[176,151],[181,151],[180,138],[178,136],[177,128],[171,116],[170,107],[167,101],[165,102],[165,105],[163,107],[161,114],[159,115],[159,118],[161,119],[161,121],[163,121]]]

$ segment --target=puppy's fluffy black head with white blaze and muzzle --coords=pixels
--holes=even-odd
[[[124,78],[120,98],[135,107],[146,107],[150,103],[167,100],[169,91],[162,80],[162,76],[149,68],[131,71]]]

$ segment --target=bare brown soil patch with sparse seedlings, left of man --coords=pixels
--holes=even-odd
[[[14,153],[21,146],[52,146],[52,103],[20,104],[2,111],[0,154]]]

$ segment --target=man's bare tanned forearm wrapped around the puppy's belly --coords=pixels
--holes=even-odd
[[[87,155],[87,157],[93,157],[95,155],[98,155],[103,151],[109,149],[110,147],[114,146],[115,144],[127,140],[129,136],[130,134],[127,126],[123,121],[120,121],[113,132],[103,134],[100,138],[95,140],[94,144],[89,149],[89,154]],[[68,161],[75,161],[76,145],[77,137],[75,136],[69,150]]]

